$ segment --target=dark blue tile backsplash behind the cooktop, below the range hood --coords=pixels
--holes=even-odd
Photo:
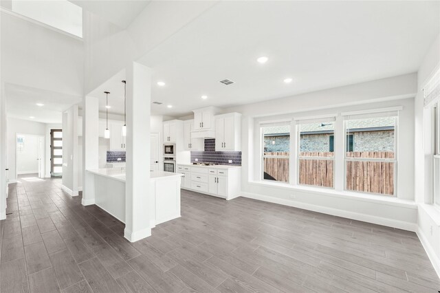
[[[215,139],[210,138],[205,140],[205,151],[191,151],[191,162],[196,162],[195,159],[198,162],[241,166],[241,151],[215,151]]]

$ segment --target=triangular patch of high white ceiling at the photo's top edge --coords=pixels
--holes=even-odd
[[[151,2],[149,0],[69,1],[124,29],[127,28],[133,19]]]

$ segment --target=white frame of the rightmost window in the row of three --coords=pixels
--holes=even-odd
[[[385,112],[384,112],[385,113]],[[369,117],[369,115],[371,115],[371,117]],[[382,197],[395,197],[397,198],[397,178],[398,178],[398,174],[397,174],[397,164],[398,164],[398,140],[399,140],[399,113],[397,112],[396,115],[393,116],[387,116],[387,115],[383,115],[382,117],[395,117],[395,124],[394,124],[394,158],[351,158],[351,157],[347,157],[347,146],[348,146],[348,141],[347,138],[349,137],[349,133],[347,133],[347,122],[349,120],[357,120],[357,119],[369,119],[369,118],[378,118],[381,116],[375,116],[373,113],[371,114],[365,114],[364,117],[362,118],[347,118],[344,117],[344,191],[349,191],[349,192],[353,192],[353,193],[366,193],[366,194],[370,194],[370,195],[380,195]],[[354,150],[354,135],[353,135],[353,150]],[[394,163],[394,171],[393,171],[393,195],[388,195],[388,194],[384,194],[384,193],[370,193],[368,191],[353,191],[351,189],[347,189],[347,162],[388,162],[388,163]]]

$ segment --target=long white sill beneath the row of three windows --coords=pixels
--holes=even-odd
[[[350,200],[358,200],[362,202],[374,202],[379,204],[388,204],[390,206],[402,206],[404,208],[417,209],[417,204],[408,199],[399,199],[397,197],[386,197],[381,195],[369,195],[365,193],[355,193],[350,191],[336,191],[327,187],[313,187],[313,186],[298,186],[288,183],[280,182],[266,182],[266,181],[250,181],[249,184],[256,186],[272,186],[277,188],[287,189],[289,191],[299,191],[301,193],[311,193],[318,195],[325,195],[331,197],[340,197]],[[439,216],[440,217],[440,216]]]

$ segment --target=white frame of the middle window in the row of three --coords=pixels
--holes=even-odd
[[[300,120],[299,120],[300,121]],[[333,122],[333,142],[336,141],[336,138],[338,138],[338,135],[336,134],[336,117],[327,117],[327,118],[320,118],[318,120],[314,120],[314,122]],[[296,133],[296,152],[295,152],[295,160],[296,160],[296,178],[295,182],[297,186],[310,186],[314,188],[327,188],[327,189],[335,189],[336,184],[336,147],[333,144],[333,156],[332,157],[319,157],[319,156],[302,156],[301,153],[301,131],[300,127],[301,124],[307,124],[305,122],[295,124],[295,133]],[[329,136],[331,136],[329,135]],[[329,139],[330,140],[330,139]],[[330,143],[330,141],[329,141]],[[330,145],[329,145],[330,149]],[[329,186],[318,186],[318,185],[311,185],[311,184],[301,184],[300,183],[300,160],[331,160],[333,161],[333,182],[332,187]]]

